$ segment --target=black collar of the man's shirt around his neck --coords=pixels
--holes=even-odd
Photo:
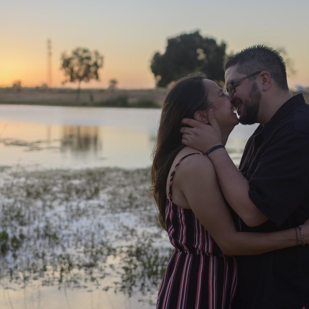
[[[277,110],[266,125],[259,125],[257,127],[257,133],[260,133],[263,138],[267,137],[269,133],[273,132],[273,130],[277,127],[278,123],[286,117],[286,115],[288,115],[297,106],[305,103],[306,102],[302,93],[293,95]]]

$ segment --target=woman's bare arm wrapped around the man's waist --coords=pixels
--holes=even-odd
[[[295,229],[273,233],[237,232],[218,184],[214,167],[204,156],[187,158],[174,176],[190,208],[225,255],[256,255],[301,244]],[[309,226],[303,227],[309,239]],[[297,229],[297,233],[299,233]]]

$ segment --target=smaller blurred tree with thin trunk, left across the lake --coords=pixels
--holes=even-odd
[[[78,97],[81,82],[99,80],[98,70],[103,66],[103,56],[98,51],[91,52],[89,49],[78,47],[72,51],[71,56],[62,53],[61,60],[61,69],[67,77],[62,83],[78,82]]]

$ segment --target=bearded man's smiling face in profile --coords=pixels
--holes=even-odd
[[[253,73],[253,72],[252,72]],[[246,76],[237,72],[237,66],[229,67],[225,72],[225,86],[231,81],[237,80]],[[243,125],[252,125],[257,122],[261,92],[252,78],[242,80],[240,83],[235,83],[235,93],[233,94],[233,105],[237,108],[239,122]]]

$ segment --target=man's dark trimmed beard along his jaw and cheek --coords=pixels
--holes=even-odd
[[[239,122],[242,125],[253,125],[257,121],[261,101],[261,92],[255,82],[251,87],[249,98],[250,99],[243,102],[243,115],[239,116]]]

